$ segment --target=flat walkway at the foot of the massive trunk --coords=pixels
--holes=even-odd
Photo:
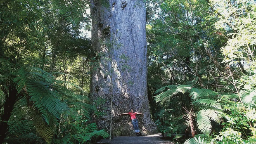
[[[174,144],[168,140],[161,139],[161,134],[154,134],[148,136],[140,137],[114,137],[109,141],[109,139],[101,139],[100,142],[96,144]]]

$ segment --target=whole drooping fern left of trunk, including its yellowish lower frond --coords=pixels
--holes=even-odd
[[[26,95],[39,112],[35,115],[41,114],[44,122],[36,120],[38,124],[35,123],[35,126],[38,134],[47,143],[51,142],[56,127],[59,126],[57,119],[61,119],[61,114],[69,110],[69,106],[80,107],[78,109],[82,110],[87,118],[90,118],[89,111],[95,109],[90,104],[81,102],[81,97],[68,90],[62,80],[57,80],[40,68],[20,68],[14,82],[17,83],[18,92]],[[95,131],[92,135],[103,135],[103,133]]]

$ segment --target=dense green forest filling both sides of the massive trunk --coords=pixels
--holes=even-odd
[[[159,132],[184,134],[185,144],[256,143],[256,1],[145,2],[148,98]],[[89,5],[0,0],[0,144],[109,137],[88,99]]]

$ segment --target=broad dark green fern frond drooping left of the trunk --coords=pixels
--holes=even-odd
[[[62,111],[68,109],[60,98],[66,92],[69,94],[69,90],[60,89],[50,73],[39,71],[39,68],[30,68],[27,71],[21,68],[19,73],[20,76],[14,80],[18,83],[17,89],[19,92],[26,90],[45,122],[49,124],[50,120],[60,118]]]

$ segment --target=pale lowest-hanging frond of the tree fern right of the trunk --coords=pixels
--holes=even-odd
[[[198,129],[205,135],[209,135],[211,133],[211,120],[208,116],[209,112],[206,110],[200,110],[197,113],[197,126]]]

